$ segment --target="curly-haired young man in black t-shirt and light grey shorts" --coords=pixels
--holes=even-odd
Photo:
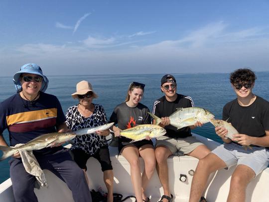
[[[245,202],[246,188],[269,164],[269,102],[255,95],[252,89],[256,75],[250,69],[237,69],[230,82],[237,98],[223,108],[222,119],[228,120],[239,132],[227,139],[228,130],[216,127],[224,142],[198,163],[192,180],[190,202],[197,202],[204,191],[210,173],[223,168],[236,169],[231,177],[228,202]],[[243,146],[252,146],[245,150]]]

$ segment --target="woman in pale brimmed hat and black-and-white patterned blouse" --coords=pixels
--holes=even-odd
[[[72,94],[72,97],[78,99],[79,103],[67,110],[66,124],[68,128],[76,131],[107,124],[104,108],[92,102],[94,98],[97,98],[97,94],[93,91],[91,83],[88,81],[77,83],[77,91]],[[100,162],[104,172],[104,182],[108,189],[107,201],[113,202],[113,168],[106,140],[106,136],[109,134],[108,129],[87,136],[77,136],[73,139],[71,152],[74,155],[74,161],[84,171],[86,179],[87,160],[94,157]]]

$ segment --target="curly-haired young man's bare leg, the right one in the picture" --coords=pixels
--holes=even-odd
[[[250,167],[237,166],[231,178],[227,202],[245,202],[247,186],[254,178],[255,172]]]

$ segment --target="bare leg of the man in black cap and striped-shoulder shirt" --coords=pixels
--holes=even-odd
[[[167,158],[171,156],[171,151],[166,148],[165,146],[159,146],[155,149],[155,156],[156,156],[156,170],[159,176],[160,183],[163,188],[163,194],[170,197],[171,193],[169,190],[169,175],[168,175],[168,165],[167,165]],[[166,199],[162,200],[166,202]]]

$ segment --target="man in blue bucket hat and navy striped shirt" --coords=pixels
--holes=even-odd
[[[10,146],[24,144],[47,133],[67,132],[65,116],[58,99],[44,93],[48,79],[41,68],[28,63],[13,76],[17,93],[0,103],[0,145],[7,146],[2,132],[7,129]],[[83,171],[62,146],[33,151],[41,169],[65,181],[75,202],[91,202]],[[10,178],[16,202],[37,202],[35,177],[25,171],[19,153],[9,161]]]

